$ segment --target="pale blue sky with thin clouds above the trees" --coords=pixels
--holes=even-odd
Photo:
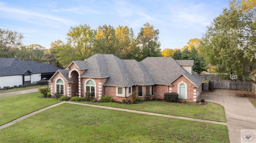
[[[79,24],[128,26],[137,36],[148,22],[160,31],[161,49],[180,49],[201,39],[223,8],[229,0],[0,0],[0,28],[22,33],[24,45],[48,49]]]

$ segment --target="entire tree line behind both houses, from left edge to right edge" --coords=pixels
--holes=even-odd
[[[230,1],[220,16],[214,18],[202,38],[188,41],[181,49],[161,51],[159,30],[148,23],[137,36],[128,26],[99,26],[92,29],[80,24],[70,27],[67,42],[56,40],[50,49],[41,45],[22,45],[23,35],[0,29],[0,57],[47,62],[65,68],[72,61],[84,60],[96,53],[114,54],[120,59],[142,61],[146,57],[173,57],[194,60],[193,71],[237,74],[241,79],[256,79],[256,1]]]

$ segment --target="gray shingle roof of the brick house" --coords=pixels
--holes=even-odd
[[[86,69],[84,78],[107,78],[104,85],[168,85],[180,75],[186,76],[195,86],[202,78],[190,74],[181,65],[193,65],[193,60],[174,60],[171,57],[147,57],[141,62],[121,60],[114,55],[96,54],[84,61],[73,61],[79,69]],[[67,74],[68,75],[68,74]],[[66,78],[68,80],[68,77]]]

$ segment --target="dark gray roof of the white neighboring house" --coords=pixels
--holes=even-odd
[[[16,58],[0,58],[0,76],[22,75],[27,71],[31,73],[56,72],[58,67],[48,63],[36,63],[35,61],[20,61]]]

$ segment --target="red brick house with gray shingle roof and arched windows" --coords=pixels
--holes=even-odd
[[[83,97],[91,92],[99,100],[102,95],[114,101],[146,93],[164,99],[164,93],[176,92],[182,102],[196,102],[202,91],[202,81],[192,72],[194,60],[174,60],[171,57],[147,57],[141,62],[122,60],[114,55],[96,54],[84,61],[73,61],[58,70],[49,80],[52,95],[59,91],[66,96]]]

